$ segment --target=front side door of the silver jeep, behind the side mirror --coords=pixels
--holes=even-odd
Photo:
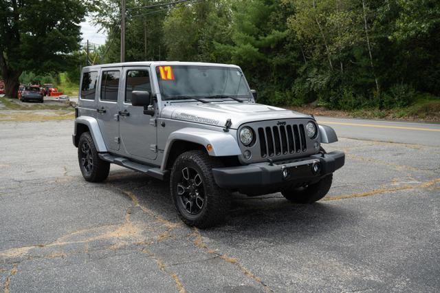
[[[157,157],[155,117],[145,115],[144,107],[131,105],[132,91],[151,93],[149,67],[124,67],[124,94],[120,99],[120,137],[131,158],[148,162]],[[122,151],[122,150],[121,150]]]

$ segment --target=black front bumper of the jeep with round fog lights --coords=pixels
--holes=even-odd
[[[290,162],[269,162],[214,168],[214,180],[221,188],[258,188],[279,184],[316,182],[344,166],[342,151],[332,151],[324,155],[318,153]],[[314,170],[318,166],[318,170]],[[285,171],[285,172],[283,172]],[[284,175],[283,175],[284,173]],[[285,174],[287,173],[287,176]]]

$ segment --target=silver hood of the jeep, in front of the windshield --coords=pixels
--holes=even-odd
[[[211,124],[219,127],[230,119],[230,128],[237,129],[241,124],[262,120],[283,120],[291,118],[310,118],[310,116],[296,111],[286,110],[249,102],[211,102],[209,104],[170,105],[164,107],[162,118],[182,120],[202,124]]]

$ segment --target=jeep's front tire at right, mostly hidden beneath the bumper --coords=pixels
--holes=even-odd
[[[286,188],[281,191],[283,196],[296,204],[312,204],[325,197],[330,190],[333,174],[323,177],[320,181],[300,188]]]

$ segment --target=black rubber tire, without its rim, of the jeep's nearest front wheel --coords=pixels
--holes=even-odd
[[[220,224],[228,213],[230,193],[217,186],[212,175],[212,168],[217,166],[221,166],[219,160],[210,158],[203,151],[187,151],[175,160],[170,175],[170,193],[177,213],[186,225],[197,228],[215,226]],[[201,188],[204,197],[203,206],[197,215],[192,215],[186,210],[184,197],[178,194],[178,184],[182,184],[182,180],[184,180],[182,172],[188,167],[200,175],[203,184]]]

